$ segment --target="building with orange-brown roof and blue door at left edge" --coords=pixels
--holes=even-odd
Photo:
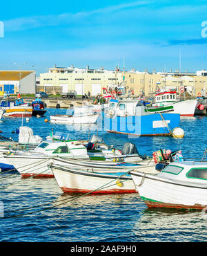
[[[35,93],[35,71],[0,71],[0,95]]]

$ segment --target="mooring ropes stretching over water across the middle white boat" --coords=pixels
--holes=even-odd
[[[37,208],[37,207],[41,207],[41,206],[45,206],[45,205],[50,205],[50,204],[52,204],[52,203],[57,203],[57,202],[66,201],[66,200],[68,200],[68,201],[66,201],[66,202],[64,202],[64,203],[68,203],[68,202],[70,202],[70,201],[74,201],[75,199],[79,199],[80,197],[83,197],[83,196],[86,196],[86,195],[88,195],[88,194],[91,194],[92,192],[95,192],[95,191],[97,191],[97,190],[100,190],[100,189],[103,189],[103,188],[109,188],[110,186],[112,186],[112,185],[114,185],[114,184],[112,184],[112,185],[108,185],[108,184],[112,183],[113,181],[116,181],[116,180],[120,179],[121,176],[125,176],[126,174],[128,174],[128,172],[125,172],[124,174],[121,174],[121,175],[118,176],[116,179],[113,179],[112,181],[110,181],[110,182],[108,182],[108,183],[102,185],[102,186],[99,187],[99,188],[96,188],[95,190],[92,190],[92,191],[90,191],[90,192],[87,192],[87,193],[81,194],[81,195],[79,195],[79,196],[76,196],[76,197],[73,198],[73,199],[62,199],[62,200],[59,200],[59,201],[56,201],[56,202],[52,201],[52,202],[50,202],[50,203],[44,203],[44,204],[42,204],[42,205],[34,205],[34,206],[32,206],[32,207],[29,207],[29,208],[23,208],[23,209],[19,209],[19,210],[8,211],[8,212],[6,212],[6,213],[18,212],[18,211],[21,211],[21,210],[30,210],[30,209],[32,209],[32,208]],[[126,179],[125,181],[128,181],[128,180],[130,180],[130,179],[131,179],[131,178],[128,178],[128,179]],[[121,182],[119,182],[119,183],[124,183],[125,181],[121,181]],[[117,183],[117,184],[119,184],[119,183]],[[107,185],[107,186],[106,186],[106,185]],[[41,211],[44,211],[44,210],[50,210],[50,209],[55,208],[55,207],[57,207],[57,206],[59,206],[59,205],[63,205],[64,203],[59,203],[59,204],[57,204],[57,205],[54,205],[54,206],[51,206],[51,207],[48,207],[48,208],[44,208],[44,209],[41,209],[41,210],[33,211],[33,212],[27,212],[27,213],[23,213],[23,214],[17,214],[17,215],[8,216],[8,217],[2,217],[2,219],[9,219],[9,218],[14,218],[14,217],[21,217],[21,216],[24,216],[24,215],[28,215],[28,214],[32,214],[32,213],[36,213],[36,212],[41,212]]]

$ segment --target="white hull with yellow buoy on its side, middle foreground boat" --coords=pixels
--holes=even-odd
[[[52,165],[52,172],[59,188],[64,193],[81,192],[92,194],[135,193],[135,185],[130,176],[116,173],[95,173],[67,169]],[[124,172],[122,173],[124,174]]]

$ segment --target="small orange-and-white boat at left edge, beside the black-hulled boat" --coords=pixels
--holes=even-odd
[[[17,95],[17,100],[8,100],[3,98],[0,104],[1,109],[5,111],[3,116],[5,117],[30,117],[32,116],[32,106],[23,102],[21,95]]]

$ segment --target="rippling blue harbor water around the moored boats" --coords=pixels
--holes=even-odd
[[[50,113],[66,113],[65,109],[48,109]],[[23,125],[32,127],[34,134],[46,137],[51,131],[68,131],[76,138],[88,138],[88,130],[82,127],[52,125],[45,118],[23,120]],[[1,135],[17,138],[12,133],[21,125],[21,118],[6,119],[0,123]],[[137,145],[139,153],[152,154],[164,149],[181,149],[186,158],[201,158],[206,149],[206,117],[181,118],[180,127],[184,138],[140,137],[98,134],[106,143],[121,149],[125,142]],[[90,127],[90,134],[97,134],[97,126]],[[9,174],[3,174],[6,177]],[[55,179],[21,179],[19,175],[0,176],[0,241],[206,241],[207,214],[199,211],[150,210],[137,194],[63,194]],[[8,187],[6,185],[11,184]],[[79,197],[78,197],[79,196]],[[41,208],[30,208],[35,205]],[[57,205],[55,208],[51,207]],[[24,211],[19,209],[30,208]],[[39,212],[38,212],[39,211]]]

